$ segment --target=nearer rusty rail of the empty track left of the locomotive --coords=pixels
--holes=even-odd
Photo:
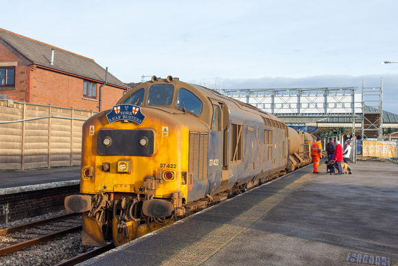
[[[17,252],[19,250],[22,250],[23,248],[32,247],[32,245],[38,245],[39,243],[42,243],[42,242],[51,241],[58,237],[65,236],[66,234],[70,234],[70,233],[82,230],[82,228],[83,228],[82,225],[79,225],[79,226],[75,226],[74,228],[69,228],[67,230],[55,232],[53,234],[47,234],[46,236],[40,236],[36,239],[30,239],[28,241],[24,241],[24,242],[17,243],[14,245],[9,245],[8,247],[3,247],[0,249],[0,256],[3,256],[4,254],[10,254],[13,252]]]

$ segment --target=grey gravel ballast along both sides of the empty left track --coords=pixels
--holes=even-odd
[[[0,228],[10,228],[12,226],[23,223],[30,223],[37,220],[43,220],[51,217],[56,217],[60,214],[67,214],[67,211],[54,212],[50,214],[41,215],[39,217],[23,219],[14,221],[8,224],[0,225]],[[8,236],[3,236],[1,241],[7,241]],[[68,234],[62,239],[43,243],[41,245],[34,245],[28,250],[14,252],[10,255],[0,257],[0,265],[14,266],[14,265],[57,265],[60,261],[73,258],[77,254],[87,252],[93,249],[91,246],[82,245],[80,233]]]

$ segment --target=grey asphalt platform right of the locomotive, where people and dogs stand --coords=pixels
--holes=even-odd
[[[398,265],[398,165],[323,162],[80,265]]]

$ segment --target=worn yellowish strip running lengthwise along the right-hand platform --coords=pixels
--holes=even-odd
[[[294,181],[292,184],[285,186],[276,194],[264,199],[256,206],[253,206],[246,212],[235,217],[229,223],[224,223],[220,228],[204,236],[200,241],[186,247],[178,252],[167,261],[163,261],[161,265],[200,265],[207,261],[213,254],[222,249],[226,244],[233,241],[236,236],[241,234],[246,228],[255,223],[260,217],[274,208],[278,203],[288,197],[294,190],[303,186],[305,182],[314,177],[309,173]]]

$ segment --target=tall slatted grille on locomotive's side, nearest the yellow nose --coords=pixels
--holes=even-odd
[[[199,179],[207,178],[207,149],[209,133],[189,133],[189,172],[198,172]]]

